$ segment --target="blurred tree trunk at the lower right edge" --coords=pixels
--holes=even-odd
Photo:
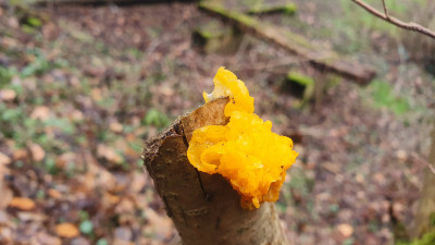
[[[435,126],[432,131],[432,144],[428,163],[435,167]],[[418,238],[435,228],[435,174],[425,171],[423,189],[420,195],[419,207],[415,213],[414,226],[411,236]]]

